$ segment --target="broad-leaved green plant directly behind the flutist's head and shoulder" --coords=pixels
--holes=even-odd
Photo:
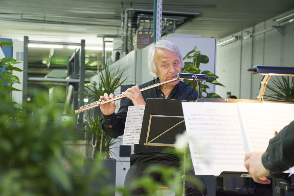
[[[183,57],[183,60],[185,60],[186,58],[192,59],[192,62],[184,63],[184,67],[182,68],[182,73],[207,74],[208,76],[214,77],[214,79],[211,79],[208,81],[199,81],[200,90],[201,90],[201,98],[221,98],[216,93],[207,93],[206,91],[206,89],[209,88],[209,86],[207,86],[206,83],[223,86],[221,83],[219,83],[216,80],[218,76],[216,76],[210,71],[201,71],[201,69],[199,68],[200,63],[206,64],[209,62],[208,56],[201,54],[200,51],[197,51],[197,48],[195,46],[192,51],[188,52],[187,55]],[[192,80],[184,80],[184,82],[190,85],[192,88],[195,88],[196,90],[198,90],[197,83],[194,83]],[[206,96],[204,96],[203,93],[206,93]]]

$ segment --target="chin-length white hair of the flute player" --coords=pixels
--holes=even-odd
[[[179,48],[171,41],[158,40],[156,41],[155,44],[150,46],[148,49],[148,67],[153,76],[157,76],[157,72],[158,72],[156,63],[155,63],[155,53],[157,48],[176,53],[180,58],[181,66],[182,67],[184,66],[182,55]]]

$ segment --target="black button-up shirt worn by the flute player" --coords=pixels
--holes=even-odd
[[[147,86],[154,85],[159,83],[158,78],[147,83],[144,83],[139,86],[139,88],[144,88]],[[141,92],[144,100],[146,101],[147,98],[162,98],[164,99],[163,92],[159,89],[159,87],[151,88],[149,90]],[[186,83],[179,81],[179,83],[175,86],[173,91],[168,95],[168,99],[177,99],[177,100],[188,100],[188,101],[195,101],[197,100],[198,92],[188,86]],[[120,135],[123,135],[125,123],[126,123],[126,116],[128,113],[128,106],[134,105],[132,100],[126,98],[123,102],[121,107],[119,108],[117,113],[113,113],[112,115],[103,115],[102,119],[102,128],[104,132],[109,135],[111,138],[117,138]],[[172,106],[171,106],[172,107]],[[164,108],[163,108],[164,109]],[[112,128],[109,128],[109,125]],[[170,160],[171,158],[175,158],[173,155],[168,156],[169,152],[173,147],[162,147],[162,146],[145,146],[145,145],[138,145],[134,146],[134,153],[136,155],[149,155],[144,156],[144,161],[154,160],[155,157],[159,157],[159,154],[166,154],[160,155],[163,159]],[[132,155],[133,156],[133,155]],[[134,156],[133,156],[134,157]],[[138,157],[138,156],[136,156]],[[140,156],[141,157],[141,156]],[[136,158],[134,161],[143,161],[142,159]],[[131,165],[132,165],[132,157],[131,157]]]

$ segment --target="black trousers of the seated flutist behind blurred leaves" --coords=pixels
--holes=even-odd
[[[165,161],[164,161],[165,162]],[[179,167],[179,163],[177,162],[166,162],[166,163],[160,163],[164,166],[168,167]],[[134,182],[136,179],[143,177],[146,175],[146,168],[148,168],[151,165],[158,165],[158,163],[154,162],[139,162],[131,165],[130,169],[128,170],[124,182],[124,187],[129,188],[131,183]],[[203,196],[207,194],[207,189],[205,186],[205,182],[202,178],[202,176],[197,176],[194,173],[194,170],[187,170],[185,172],[186,175],[198,178],[198,182],[201,183],[201,185],[196,185],[195,183],[192,183],[188,180],[185,182],[185,194],[187,196]],[[161,174],[160,173],[151,173],[149,174],[150,177],[153,178],[156,182],[161,182]],[[164,182],[161,182],[164,183]],[[164,184],[163,184],[164,185]],[[202,188],[199,188],[202,187]],[[169,187],[169,189],[173,190],[173,187]],[[146,191],[143,187],[137,187],[136,189],[131,190],[131,195],[147,195]],[[125,195],[126,196],[126,195]]]

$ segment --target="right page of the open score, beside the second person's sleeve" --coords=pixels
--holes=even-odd
[[[238,103],[241,128],[247,138],[247,152],[265,151],[275,131],[294,120],[294,104]]]

